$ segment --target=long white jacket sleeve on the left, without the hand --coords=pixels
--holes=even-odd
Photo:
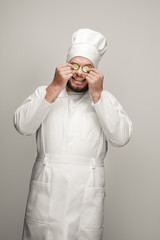
[[[36,88],[14,113],[13,123],[20,134],[32,135],[39,128],[52,107],[45,96],[46,86]]]

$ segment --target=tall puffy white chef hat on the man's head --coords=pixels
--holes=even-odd
[[[72,35],[72,44],[68,49],[66,61],[82,56],[88,58],[96,68],[106,49],[107,41],[101,33],[88,28],[78,29]]]

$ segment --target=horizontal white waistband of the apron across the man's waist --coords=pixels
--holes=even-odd
[[[43,163],[56,163],[56,164],[83,164],[86,166],[91,165],[92,167],[103,167],[104,159],[97,159],[94,157],[82,157],[73,155],[61,155],[61,154],[51,154],[51,153],[38,153],[36,161],[41,161]]]

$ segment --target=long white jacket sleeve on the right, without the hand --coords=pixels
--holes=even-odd
[[[120,147],[131,138],[133,124],[118,100],[108,91],[103,90],[94,107],[106,139],[111,145]]]

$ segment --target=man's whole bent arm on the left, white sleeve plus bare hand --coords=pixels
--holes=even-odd
[[[13,122],[16,130],[23,135],[32,135],[52,108],[67,81],[73,75],[73,65],[65,63],[56,67],[52,83],[38,87],[16,110]]]

